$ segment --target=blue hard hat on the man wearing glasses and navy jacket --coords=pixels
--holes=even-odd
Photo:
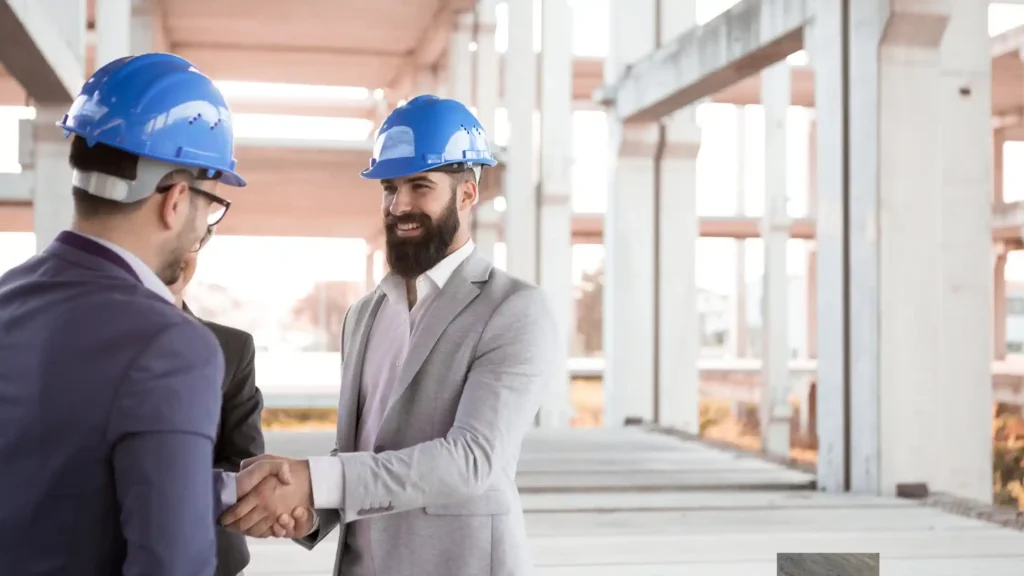
[[[174,54],[126,56],[103,66],[82,86],[57,126],[89,146],[102,143],[140,158],[220,172],[234,171],[231,111],[213,81]]]

